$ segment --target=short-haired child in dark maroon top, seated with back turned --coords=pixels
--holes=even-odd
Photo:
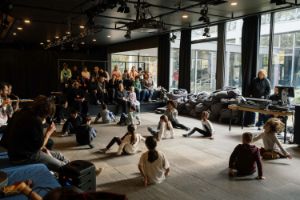
[[[248,176],[258,169],[257,179],[264,179],[259,148],[251,145],[252,134],[243,133],[243,144],[235,147],[229,159],[229,176]]]

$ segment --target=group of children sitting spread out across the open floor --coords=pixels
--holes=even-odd
[[[117,155],[130,155],[137,153],[140,143],[145,142],[148,151],[142,154],[138,164],[140,173],[144,178],[144,184],[160,183],[168,175],[170,164],[166,156],[162,152],[156,150],[157,142],[167,138],[168,132],[170,137],[174,138],[174,128],[181,128],[184,130],[190,129],[179,123],[179,120],[177,119],[178,111],[176,109],[176,104],[173,101],[168,101],[167,109],[160,117],[158,127],[156,129],[148,127],[148,131],[152,136],[145,139],[136,131],[137,126],[136,123],[133,122],[134,112],[135,107],[131,106],[129,113],[127,115],[122,114],[121,116],[119,124],[122,123],[122,125],[128,125],[127,133],[121,138],[113,137],[109,144],[100,151],[106,153],[114,144],[117,144],[119,145]],[[103,123],[116,122],[115,115],[107,109],[105,104],[102,105],[101,112],[97,115],[95,122],[98,122],[99,119],[102,119]],[[82,123],[80,116],[76,112],[72,112],[70,119],[68,119],[63,126],[64,133],[78,133],[82,130],[88,130],[91,132],[90,135],[92,140],[96,135],[96,130],[94,128],[87,128],[91,123],[89,117],[84,121],[85,122]],[[183,137],[190,137],[195,132],[199,132],[204,137],[213,139],[215,130],[212,123],[209,121],[209,113],[206,111],[201,115],[201,124],[202,128],[194,127],[187,134],[183,134]],[[74,126],[81,127],[81,129],[74,129]],[[242,144],[237,145],[230,156],[229,176],[251,175],[256,171],[257,166],[257,178],[264,179],[261,157],[264,159],[292,158],[276,137],[276,134],[282,132],[283,129],[284,123],[280,119],[271,118],[265,123],[264,132],[261,134],[253,137],[251,133],[244,133],[242,136]],[[259,149],[251,144],[260,139],[263,140],[264,147]],[[78,143],[80,143],[80,141],[78,141]],[[277,150],[277,147],[279,147],[280,151]]]

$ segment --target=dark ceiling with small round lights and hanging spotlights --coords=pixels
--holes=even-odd
[[[2,1],[2,0],[1,0]],[[6,36],[1,40],[2,43],[22,42],[30,44],[47,43],[55,40],[55,36],[60,38],[66,35],[66,31],[71,31],[72,36],[76,37],[82,32],[80,25],[87,23],[87,16],[84,11],[104,0],[11,0],[13,10],[10,13],[15,21],[10,27]],[[109,1],[109,0],[106,0]],[[80,39],[85,45],[109,45],[123,42],[126,30],[115,29],[117,22],[131,22],[136,18],[135,2],[127,1],[130,12],[117,12],[118,6],[114,9],[107,9],[95,17],[95,24],[102,26],[93,34]],[[182,28],[192,28],[201,26],[198,21],[200,17],[200,5],[207,0],[141,0],[149,3],[149,11],[152,18],[162,20],[166,30],[179,30]],[[230,3],[237,2],[237,6]],[[278,8],[289,7],[285,4],[276,6],[270,4],[270,0],[227,0],[226,3],[217,6],[209,5],[208,16],[210,21],[224,21],[239,18],[258,12],[270,11]],[[187,15],[183,19],[182,15]],[[30,19],[30,24],[25,24],[24,19]],[[203,25],[203,24],[202,24]],[[22,27],[18,31],[17,27]],[[14,36],[13,33],[16,33]],[[161,32],[145,33],[133,31],[131,39],[148,37]],[[110,37],[107,37],[110,36]],[[93,41],[96,39],[96,41]]]

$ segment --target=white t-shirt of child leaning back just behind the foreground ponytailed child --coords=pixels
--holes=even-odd
[[[139,144],[141,141],[145,141],[145,138],[140,134],[136,134],[136,142],[131,144],[131,135],[127,135],[119,146],[118,155],[121,155],[123,149],[128,154],[135,154],[138,150]]]

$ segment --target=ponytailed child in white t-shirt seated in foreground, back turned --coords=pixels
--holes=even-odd
[[[146,139],[148,151],[143,153],[139,161],[139,170],[144,178],[144,185],[163,182],[170,172],[170,164],[166,156],[156,150],[156,139]]]

